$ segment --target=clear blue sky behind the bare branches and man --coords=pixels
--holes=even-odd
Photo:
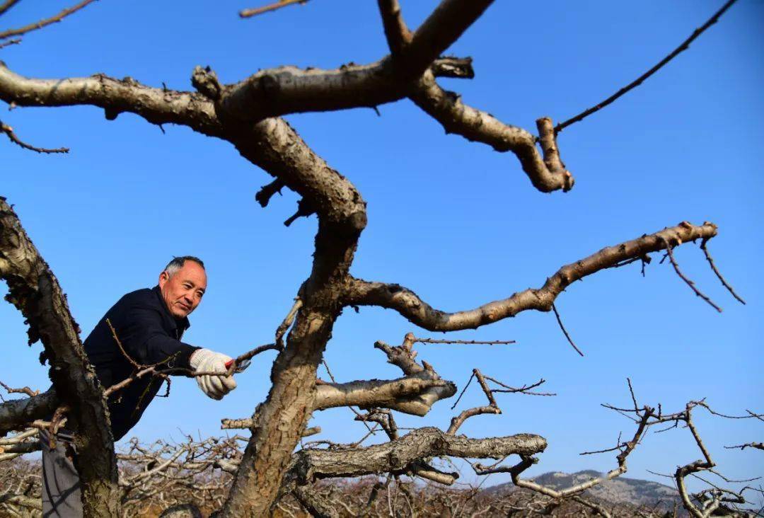
[[[403,2],[416,27],[437,2]],[[496,2],[449,50],[474,57],[473,80],[443,80],[465,102],[533,130],[543,115],[562,120],[604,99],[665,56],[721,2]],[[2,27],[63,8],[21,2]],[[240,20],[246,2],[102,0],[0,59],[27,76],[107,73],[190,89],[193,66],[209,65],[225,82],[281,64],[333,68],[386,52],[375,2],[314,0]],[[613,445],[633,427],[600,403],[628,403],[626,377],[642,403],[681,410],[707,397],[715,409],[764,411],[761,337],[764,280],[762,155],[764,3],[741,0],[658,75],[559,138],[576,176],[570,193],[542,194],[511,154],[445,135],[411,102],[370,109],[290,115],[306,142],[348,176],[368,202],[369,224],[352,273],[397,282],[434,306],[468,309],[539,287],[562,264],[682,220],[719,225],[709,248],[747,300],[736,303],[692,244],[676,252],[681,267],[724,307],[717,314],[654,261],[609,270],[576,283],[558,299],[578,357],[552,313],[526,312],[465,339],[516,339],[517,345],[419,345],[419,358],[461,389],[471,369],[509,384],[544,377],[554,398],[500,397],[501,416],[468,421],[474,436],[535,432],[549,440],[532,473],[612,468],[610,455],[578,452]],[[102,110],[18,108],[2,120],[21,138],[64,156],[40,156],[0,143],[2,189],[69,296],[83,338],[122,294],[151,287],[173,255],[196,254],[209,292],[193,314],[189,342],[235,356],[270,342],[309,273],[316,219],[282,225],[296,196],[254,201],[270,176],[224,141],[134,115],[106,121]],[[0,288],[5,290],[5,286]],[[45,389],[40,345],[25,345],[21,315],[0,305],[5,361],[0,379]],[[400,343],[415,329],[397,313],[348,311],[338,319],[325,358],[338,380],[397,377],[374,341]],[[169,399],[154,400],[133,430],[149,441],[183,432],[221,433],[219,419],[243,417],[267,393],[273,353],[257,357],[222,402],[193,380],[176,379]],[[445,427],[483,404],[470,387],[457,410],[439,403],[401,426]],[[347,409],[317,413],[312,425],[335,441],[363,430]],[[764,423],[698,413],[698,427],[720,470],[733,478],[762,473],[761,452],[723,445],[761,441]],[[649,434],[630,457],[629,474],[700,457],[687,430]],[[465,481],[471,480],[469,469]],[[494,476],[488,484],[504,479]]]

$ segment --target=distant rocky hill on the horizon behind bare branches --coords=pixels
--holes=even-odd
[[[571,485],[581,484],[592,478],[601,477],[603,474],[585,470],[573,474],[560,473],[558,471],[549,472],[533,478],[539,484],[551,487],[554,490],[560,490]],[[489,494],[502,494],[518,490],[511,482],[498,484],[488,487],[486,492]],[[594,497],[606,503],[633,503],[635,506],[652,507],[658,504],[660,509],[671,510],[675,503],[681,502],[679,494],[673,487],[658,482],[643,481],[638,478],[618,477],[613,480],[597,484],[589,490],[584,491],[584,495]]]

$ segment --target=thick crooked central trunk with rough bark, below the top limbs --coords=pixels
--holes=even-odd
[[[273,386],[253,416],[252,437],[222,511],[223,516],[262,516],[277,497],[311,415],[316,371],[342,309],[341,287],[366,225],[366,211],[354,186],[283,120],[261,121],[250,134],[232,134],[231,141],[244,157],[301,194],[319,216],[311,275],[299,292],[303,306],[274,362]]]

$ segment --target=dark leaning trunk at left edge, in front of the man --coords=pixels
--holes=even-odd
[[[50,379],[71,409],[85,514],[117,516],[117,461],[103,390],[58,280],[4,198],[0,198],[0,277],[8,283],[6,299],[27,319],[29,343],[43,343]]]

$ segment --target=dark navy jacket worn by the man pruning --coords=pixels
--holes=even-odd
[[[106,319],[112,323],[125,352],[141,365],[189,367],[196,347],[180,342],[189,328],[188,319],[173,318],[159,287],[138,290],[123,296],[109,309],[85,339],[85,351],[104,388],[130,377],[136,371],[120,351]],[[114,440],[121,439],[141,419],[144,410],[162,385],[159,377],[143,377],[108,398]]]

